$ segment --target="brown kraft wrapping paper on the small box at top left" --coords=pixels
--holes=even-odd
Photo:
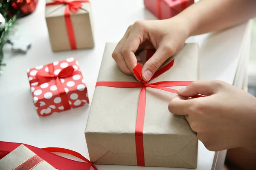
[[[52,3],[54,0],[46,0]],[[51,5],[45,8],[45,19],[47,23],[49,39],[52,51],[70,50],[70,41],[65,23],[64,10],[66,5]],[[73,33],[77,49],[93,48],[93,21],[90,3],[82,3],[76,13],[70,11]]]

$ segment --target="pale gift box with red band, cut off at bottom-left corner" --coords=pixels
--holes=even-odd
[[[21,144],[0,159],[0,170],[55,170],[55,168]]]

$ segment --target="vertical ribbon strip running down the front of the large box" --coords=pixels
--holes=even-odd
[[[145,166],[144,146],[143,146],[143,126],[144,126],[144,119],[145,119],[145,107],[146,107],[146,87],[143,87],[140,91],[140,99],[139,99],[137,120],[136,120],[136,127],[135,127],[135,143],[136,143],[138,166]]]

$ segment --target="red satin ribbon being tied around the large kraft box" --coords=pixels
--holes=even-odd
[[[150,79],[154,79],[172,67],[174,64],[174,59],[157,71],[154,76]],[[192,83],[192,81],[164,81],[164,82],[154,82],[148,83],[144,82],[141,75],[142,66],[138,63],[134,68],[134,74],[140,82],[97,82],[96,86],[108,86],[116,88],[142,88],[140,91],[140,99],[137,110],[137,120],[135,127],[135,144],[136,144],[136,153],[137,153],[137,165],[145,166],[144,159],[144,148],[143,148],[143,126],[145,118],[145,106],[146,106],[146,87],[157,88],[163,91],[169,91],[171,93],[176,93],[177,90],[166,88],[171,86],[187,86]],[[200,97],[197,95],[195,97]]]

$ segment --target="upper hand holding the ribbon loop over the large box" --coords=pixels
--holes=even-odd
[[[140,49],[156,49],[154,55],[143,65],[143,80],[148,82],[169,57],[179,51],[189,37],[188,22],[179,17],[168,20],[136,21],[129,26],[116,45],[112,57],[119,68],[133,75],[133,68],[141,59],[135,52]]]

